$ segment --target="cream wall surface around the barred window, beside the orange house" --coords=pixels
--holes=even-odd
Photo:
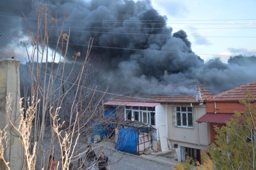
[[[198,123],[196,122],[198,118],[206,113],[205,105],[193,107],[193,129],[173,126],[173,115],[175,115],[175,113],[172,113],[172,106],[174,105],[167,106],[168,139],[171,140],[172,145],[177,142],[183,142],[187,144],[192,144],[192,148],[195,149],[202,149],[202,146],[200,145],[209,145],[210,135],[208,136],[209,128],[207,127],[207,123],[202,123],[198,125]]]

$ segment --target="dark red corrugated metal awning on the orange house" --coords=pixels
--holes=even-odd
[[[198,123],[226,123],[233,117],[233,113],[206,113],[201,118],[197,119]]]

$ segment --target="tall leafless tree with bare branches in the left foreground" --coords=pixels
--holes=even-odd
[[[77,154],[76,146],[81,129],[101,112],[98,107],[104,96],[104,92],[96,94],[97,86],[91,86],[88,90],[88,84],[85,83],[93,38],[88,41],[88,49],[84,52],[85,55],[83,61],[79,62],[79,67],[76,66],[77,58],[82,57],[80,51],[74,52],[72,67],[69,68],[68,74],[64,74],[70,33],[63,31],[63,25],[68,19],[68,13],[64,13],[61,29],[59,29],[58,19],[50,17],[46,5],[42,5],[40,1],[37,1],[37,4],[33,1],[32,3],[38,25],[36,32],[32,32],[24,15],[32,41],[32,52],[29,50],[29,43],[22,43],[27,51],[26,67],[29,74],[22,77],[24,81],[21,84],[21,91],[24,98],[20,101],[19,126],[16,127],[11,119],[10,123],[21,136],[25,153],[25,169],[46,169],[49,161],[45,160],[49,160],[50,154],[59,156],[58,166],[69,169],[72,160],[85,154],[86,150],[80,150]],[[51,36],[56,37],[56,43],[49,41]],[[52,53],[50,53],[51,50]],[[97,99],[94,99],[95,96]],[[8,105],[6,107],[8,108]],[[69,119],[60,119],[59,115],[67,116],[67,113]],[[84,120],[83,126],[80,125],[80,119]],[[68,122],[68,126],[63,128],[65,121]],[[48,129],[50,136],[49,140],[46,140],[45,132]],[[2,144],[6,140],[5,131],[1,130],[1,134]],[[47,143],[48,141],[50,142]],[[5,146],[0,146],[3,151]],[[3,155],[1,159],[9,168],[8,161]]]

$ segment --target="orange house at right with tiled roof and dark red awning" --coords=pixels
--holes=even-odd
[[[233,117],[235,111],[244,112],[245,106],[239,101],[247,97],[244,93],[246,89],[254,96],[255,101],[256,80],[216,94],[206,101],[206,114],[197,119],[197,122],[208,124],[211,143],[215,142],[214,126],[226,126],[226,122]]]

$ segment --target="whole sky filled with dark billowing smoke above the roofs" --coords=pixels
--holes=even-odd
[[[256,1],[43,0],[42,3],[46,3],[49,17],[57,17],[58,29],[64,13],[68,12],[63,28],[66,34],[70,28],[68,61],[74,60],[75,51],[86,51],[88,40],[94,38],[90,58],[99,56],[104,63],[101,69],[113,83],[115,92],[194,93],[191,89],[196,81],[214,92],[222,92],[255,80],[255,63],[227,64],[227,60],[239,54],[256,55]],[[22,12],[35,37],[38,22],[32,3],[27,0],[1,3],[0,58],[10,58],[13,50],[16,59],[25,63],[26,50],[30,55],[33,46]],[[54,26],[49,37],[49,54],[56,47],[56,32]],[[77,61],[83,59],[81,55]]]

